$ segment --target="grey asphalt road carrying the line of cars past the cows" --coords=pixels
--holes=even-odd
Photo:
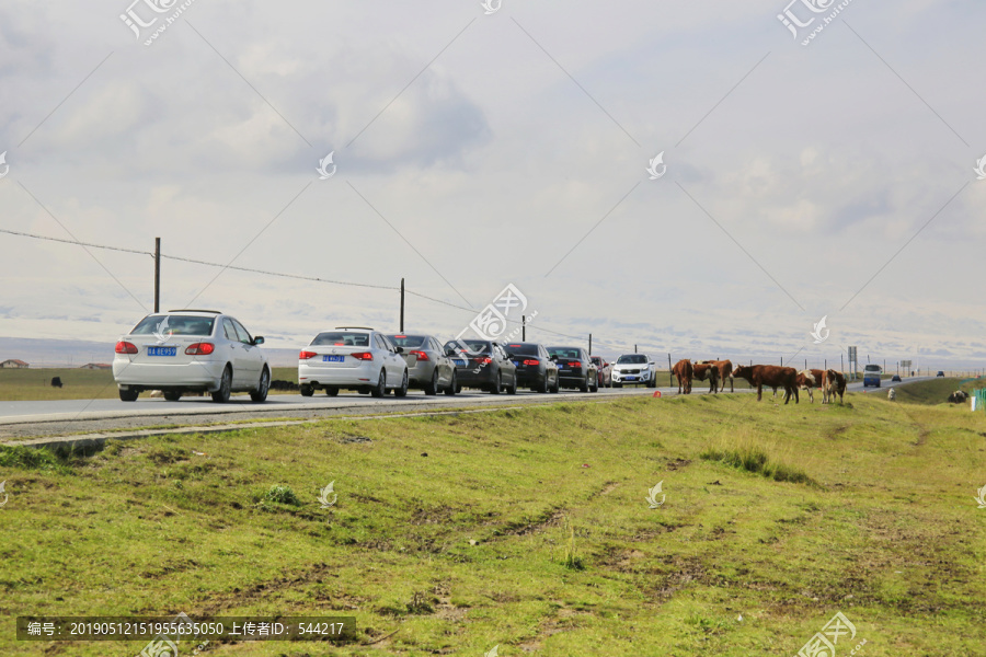
[[[931,377],[907,378],[902,383],[925,381]],[[884,392],[884,388],[863,390],[862,382],[850,383],[849,391]],[[658,388],[662,396],[677,394],[675,388]],[[558,394],[539,394],[519,391],[516,395],[492,395],[467,390],[455,396],[439,394],[428,396],[411,391],[404,399],[392,394],[383,399],[356,393],[340,393],[329,397],[317,394],[302,397],[299,394],[272,394],[261,404],[246,395],[236,395],[227,404],[213,403],[208,396],[183,397],[169,402],[161,397],[142,395],[133,403],[119,400],[58,400],[36,402],[0,402],[0,438],[18,439],[38,436],[67,435],[85,431],[137,429],[148,426],[188,426],[229,423],[243,419],[270,420],[274,418],[313,419],[334,415],[381,415],[390,413],[434,412],[448,408],[485,408],[491,406],[518,406],[560,401],[604,401],[622,396],[653,395],[653,389],[622,388],[600,389],[597,393],[562,391]],[[737,392],[741,392],[737,390]],[[744,389],[742,392],[749,392]],[[693,394],[708,394],[708,388],[698,382]],[[821,392],[818,392],[821,394]],[[765,396],[769,397],[768,389]],[[805,395],[802,394],[802,397]],[[821,402],[821,399],[817,400]]]

